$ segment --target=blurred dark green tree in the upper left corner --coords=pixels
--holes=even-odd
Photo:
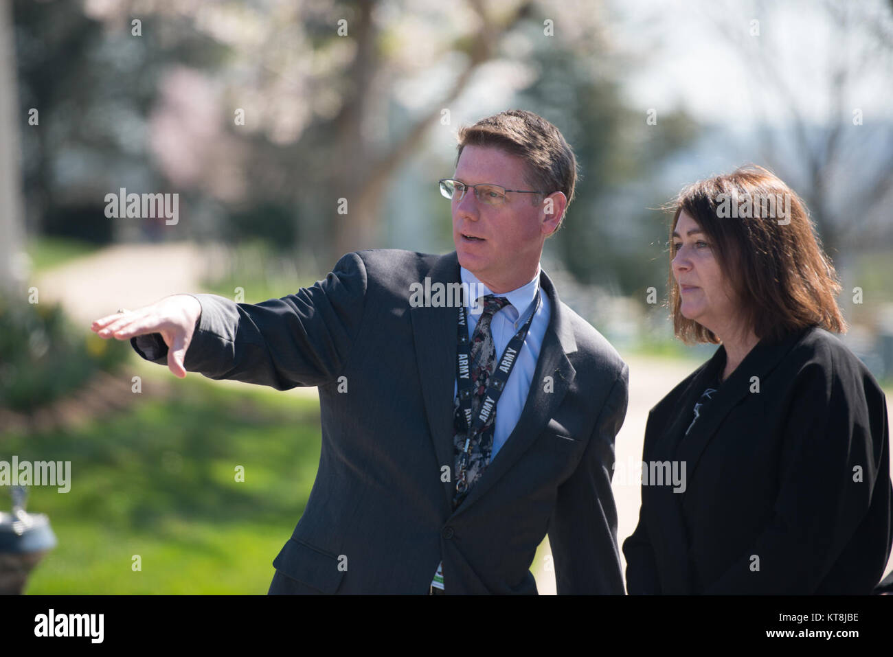
[[[113,225],[150,229],[148,221],[113,224],[106,194],[169,191],[147,138],[159,80],[176,64],[211,69],[223,49],[151,14],[136,14],[137,36],[126,13],[105,22],[85,6],[100,4],[14,3],[24,196],[30,233],[105,243]],[[126,3],[104,6],[129,12]]]

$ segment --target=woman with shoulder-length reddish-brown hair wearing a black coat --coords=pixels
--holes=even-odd
[[[887,403],[830,333],[840,287],[804,205],[760,167],[675,205],[676,336],[721,346],[648,415],[629,593],[871,593],[893,542]]]

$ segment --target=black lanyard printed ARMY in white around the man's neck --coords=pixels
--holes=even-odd
[[[459,461],[459,472],[455,480],[455,490],[457,494],[463,494],[468,490],[468,482],[466,480],[468,469],[468,448],[472,444],[472,438],[480,433],[480,429],[486,424],[491,413],[496,412],[497,402],[505,389],[505,382],[512,373],[514,363],[518,360],[518,353],[524,345],[524,338],[530,330],[530,324],[539,310],[539,287],[537,287],[537,296],[534,299],[533,312],[524,322],[522,328],[514,334],[502,357],[497,361],[496,369],[490,375],[487,391],[484,393],[483,401],[480,403],[480,409],[477,416],[472,422],[472,399],[474,397],[474,386],[472,385],[472,355],[468,344],[468,327],[466,325],[465,300],[463,305],[459,307],[459,331],[456,345],[456,362],[455,362],[455,380],[459,392],[459,410],[462,412],[462,418],[467,429],[467,437],[465,438],[465,446],[463,447],[462,457]]]

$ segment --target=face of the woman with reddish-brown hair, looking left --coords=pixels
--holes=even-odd
[[[680,212],[672,234],[671,263],[680,291],[680,312],[721,336],[735,323],[738,305],[713,248],[697,221]]]

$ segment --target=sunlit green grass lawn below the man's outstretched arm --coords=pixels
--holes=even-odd
[[[30,488],[59,545],[27,593],[267,592],[313,487],[319,404],[197,375],[173,390],[78,430],[0,437],[4,459],[71,461],[68,493]]]

